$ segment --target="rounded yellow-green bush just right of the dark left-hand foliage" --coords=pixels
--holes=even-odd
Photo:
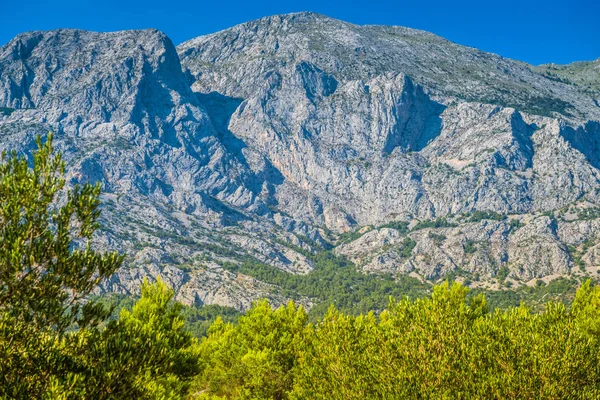
[[[261,301],[237,325],[221,319],[199,346],[197,391],[236,399],[282,399],[292,389],[297,343],[308,315],[294,303],[272,310]]]

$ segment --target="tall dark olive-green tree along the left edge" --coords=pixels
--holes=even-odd
[[[67,329],[107,315],[81,300],[122,262],[91,248],[100,186],[67,190],[52,135],[37,144],[32,168],[15,152],[0,164],[0,394],[10,397],[40,397],[65,372]]]

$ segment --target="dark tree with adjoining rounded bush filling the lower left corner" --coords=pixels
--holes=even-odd
[[[198,358],[173,292],[145,284],[106,324],[89,295],[123,258],[91,246],[100,187],[66,189],[52,135],[37,143],[31,168],[0,164],[0,398],[182,397]]]

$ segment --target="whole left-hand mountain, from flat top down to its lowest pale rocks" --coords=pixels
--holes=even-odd
[[[26,33],[0,49],[0,78],[2,148],[28,152],[37,134],[54,131],[70,183],[102,183],[104,227],[97,242],[130,254],[128,267],[139,266],[106,288],[135,291],[139,282],[130,282],[131,274],[142,279],[160,271],[157,265],[191,263],[215,252],[310,270],[302,255],[260,239],[253,215],[268,212],[258,198],[261,177],[224,146],[164,34]],[[243,236],[222,239],[220,229],[230,225],[228,234]],[[176,276],[214,287],[215,269],[227,273],[214,263],[209,267],[213,272]],[[231,292],[217,296],[220,303],[249,306],[266,293],[260,283],[239,286],[236,279],[217,285]],[[216,301],[210,294],[181,296]]]

